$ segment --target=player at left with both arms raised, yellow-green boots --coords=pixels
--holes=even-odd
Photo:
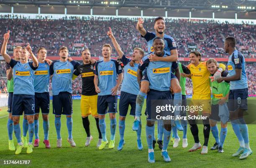
[[[38,67],[38,61],[34,56],[30,45],[28,44],[26,49],[21,49],[20,61],[15,61],[6,53],[7,42],[10,37],[10,30],[4,35],[3,47],[1,54],[5,61],[10,64],[13,69],[13,104],[12,104],[12,116],[14,124],[14,133],[18,141],[18,146],[15,154],[20,154],[23,149],[23,143],[20,135],[20,116],[23,114],[27,115],[28,119],[28,130],[29,130],[29,141],[27,153],[32,153],[32,141],[34,135],[34,70]],[[28,57],[31,55],[33,62],[28,62]]]

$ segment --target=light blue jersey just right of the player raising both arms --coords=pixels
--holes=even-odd
[[[50,66],[44,62],[39,63],[35,71],[34,88],[36,93],[49,92]]]

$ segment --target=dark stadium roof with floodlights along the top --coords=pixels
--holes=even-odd
[[[211,10],[212,12],[256,11],[256,0],[0,0],[7,5],[64,5],[90,7],[135,7],[141,9],[161,8],[164,10]]]

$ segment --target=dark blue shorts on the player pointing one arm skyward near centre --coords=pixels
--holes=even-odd
[[[130,94],[125,91],[121,91],[119,101],[119,116],[125,117],[127,115],[129,105],[131,105],[130,115],[135,116],[136,98],[137,95],[135,94]]]

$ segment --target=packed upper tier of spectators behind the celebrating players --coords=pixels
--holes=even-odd
[[[64,45],[68,47],[71,56],[79,56],[82,49],[89,48],[92,56],[98,57],[101,55],[98,46],[110,43],[106,36],[108,27],[115,32],[120,47],[128,56],[137,46],[147,51],[146,40],[140,38],[136,30],[137,18],[65,17],[53,20],[49,17],[29,19],[0,15],[0,21],[6,25],[0,28],[0,33],[7,30],[11,33],[8,51],[12,51],[15,43],[25,45],[29,42],[33,50],[40,46],[46,47],[49,56],[58,56],[59,47]],[[143,26],[146,30],[153,31],[153,25],[153,19],[144,19]],[[237,48],[244,57],[254,58],[255,32],[256,27],[249,24],[166,19],[166,34],[174,37],[179,57],[187,57],[189,46],[196,46],[202,57],[228,57],[223,51],[223,39],[232,35],[236,37]]]

